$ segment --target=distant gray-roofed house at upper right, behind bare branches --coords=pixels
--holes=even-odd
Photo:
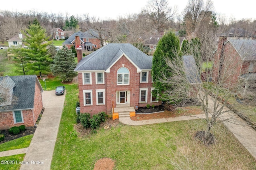
[[[220,34],[220,37],[226,37],[227,40],[256,40],[256,30],[251,32],[241,28],[231,28],[228,32]]]

